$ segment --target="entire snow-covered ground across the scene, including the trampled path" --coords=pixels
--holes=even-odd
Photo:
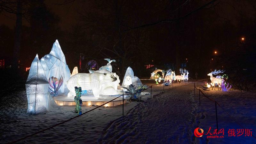
[[[155,81],[145,80],[148,86]],[[150,92],[150,88],[147,92]],[[256,94],[232,90],[229,92],[204,91],[215,99],[244,128],[256,135]],[[175,84],[174,87],[153,86],[152,98],[143,95],[144,102],[130,102],[115,107],[101,107],[87,114],[37,134],[23,143],[255,143],[253,137],[228,137],[228,128],[240,128],[218,108],[219,129],[225,129],[222,139],[194,136],[200,127],[207,133],[216,128],[215,104],[194,96],[194,83]],[[95,106],[83,106],[88,111]],[[0,143],[7,143],[60,123],[71,117],[74,106],[57,106],[45,114],[21,115],[1,124]]]

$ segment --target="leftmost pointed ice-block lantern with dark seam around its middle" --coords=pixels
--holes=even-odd
[[[48,95],[49,83],[38,55],[34,58],[26,81],[28,112],[38,113],[49,110],[52,97]]]

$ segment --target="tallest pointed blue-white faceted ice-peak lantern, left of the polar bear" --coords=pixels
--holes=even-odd
[[[40,62],[47,80],[52,76],[56,78],[61,78],[61,76],[63,77],[63,84],[59,89],[59,93],[68,92],[66,83],[70,78],[70,70],[66,64],[66,58],[61,50],[58,40],[53,43],[51,52],[42,57]],[[50,86],[49,89],[54,90],[54,88]],[[51,92],[51,90],[49,90],[49,92]]]

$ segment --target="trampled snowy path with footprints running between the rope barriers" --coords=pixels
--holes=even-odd
[[[99,143],[194,143],[192,84],[173,87],[111,121]]]

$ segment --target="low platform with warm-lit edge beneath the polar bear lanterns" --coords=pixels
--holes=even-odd
[[[104,103],[107,103],[108,101],[113,100],[114,98],[118,97],[119,95],[114,95],[114,96],[100,96],[100,99],[96,99],[93,95],[82,95],[81,99],[83,101],[83,106],[99,106],[102,105]],[[126,98],[126,96],[124,95],[124,99]],[[56,96],[53,97],[54,101],[58,104],[58,105],[67,105],[67,106],[75,106],[76,102],[74,101],[74,97],[67,97],[66,95],[60,95],[60,96]],[[125,101],[124,101],[125,103]],[[116,100],[109,102],[107,104],[105,104],[104,106],[106,107],[113,107],[113,106],[117,106],[123,104],[123,96],[117,98]]]

